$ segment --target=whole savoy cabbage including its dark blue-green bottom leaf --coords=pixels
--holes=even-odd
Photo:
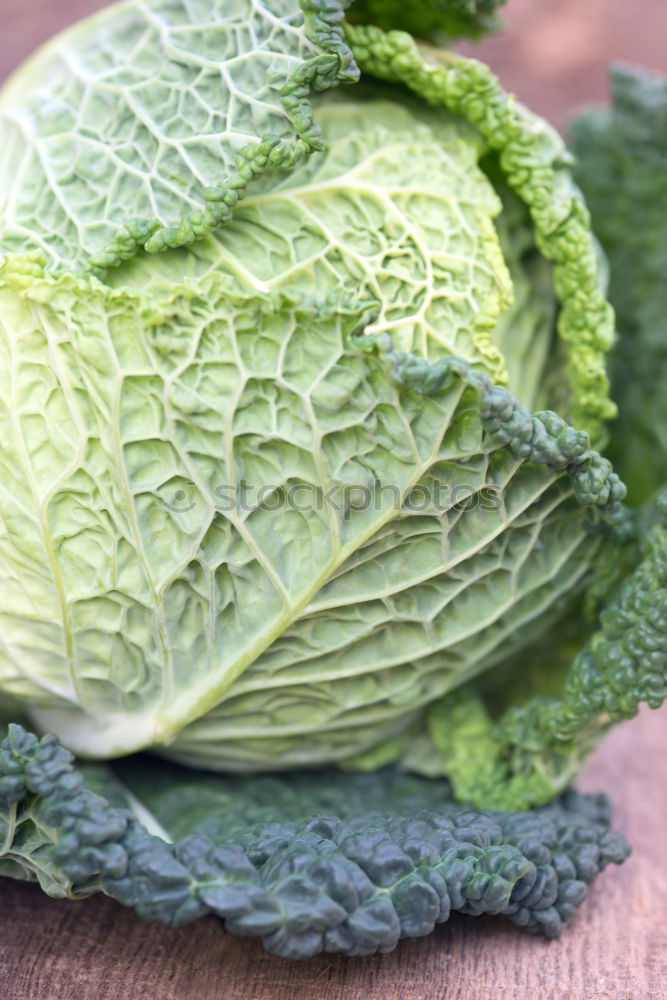
[[[248,772],[85,790],[14,726],[0,872],[359,954],[450,909],[555,934],[625,855],[547,805],[666,693],[667,501],[600,451],[606,264],[551,127],[392,30],[496,6],[125,0],[0,92],[5,714]],[[179,827],[188,788],[222,826]]]

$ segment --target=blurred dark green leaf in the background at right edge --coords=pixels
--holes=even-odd
[[[619,65],[611,82],[613,106],[582,112],[572,142],[618,315],[610,452],[638,503],[667,481],[667,79]]]

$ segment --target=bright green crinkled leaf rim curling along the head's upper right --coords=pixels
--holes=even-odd
[[[595,438],[616,413],[604,364],[614,317],[600,286],[588,211],[572,183],[562,141],[477,60],[420,50],[400,31],[347,25],[345,34],[363,73],[405,84],[429,104],[461,115],[499,154],[508,185],[530,208],[540,250],[554,262],[562,304],[559,332],[570,349],[572,418]]]

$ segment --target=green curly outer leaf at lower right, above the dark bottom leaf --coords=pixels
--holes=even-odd
[[[607,729],[667,697],[667,490],[640,532],[643,557],[574,657],[558,696],[537,697],[498,720],[478,693],[455,692],[429,726],[458,797],[505,809],[548,801]]]

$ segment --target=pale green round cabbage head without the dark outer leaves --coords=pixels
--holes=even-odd
[[[343,8],[126,0],[2,91],[0,691],[228,771],[495,739],[465,796],[545,801],[582,746],[484,684],[622,562],[599,255],[544,121]]]

